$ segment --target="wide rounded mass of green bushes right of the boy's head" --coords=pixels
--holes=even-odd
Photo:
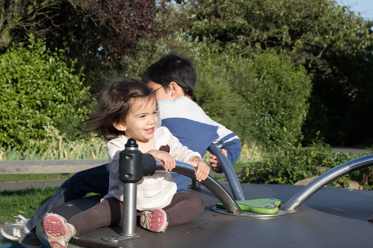
[[[296,145],[308,111],[311,80],[283,54],[243,58],[201,51],[195,100],[241,139],[263,145]]]

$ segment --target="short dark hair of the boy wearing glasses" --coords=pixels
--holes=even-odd
[[[193,96],[197,74],[193,62],[175,54],[167,54],[151,64],[142,74],[142,81],[161,84],[169,90],[171,82],[177,83],[186,95]]]

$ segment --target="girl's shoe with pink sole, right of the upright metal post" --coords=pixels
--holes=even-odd
[[[140,225],[152,232],[166,231],[168,222],[166,212],[162,209],[143,211],[140,216]]]

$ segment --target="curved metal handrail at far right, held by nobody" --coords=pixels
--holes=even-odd
[[[315,178],[313,181],[308,183],[302,190],[295,194],[288,202],[286,202],[281,210],[295,210],[302,203],[305,202],[310,196],[316,193],[319,189],[326,186],[328,183],[347,175],[353,171],[357,171],[373,165],[373,154],[366,155],[360,158],[355,158],[343,164],[340,164],[319,177]]]

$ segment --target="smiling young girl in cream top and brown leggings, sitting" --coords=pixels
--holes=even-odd
[[[87,120],[86,132],[97,132],[109,142],[109,193],[101,202],[66,221],[60,215],[47,213],[43,227],[53,248],[65,248],[72,236],[93,231],[99,227],[121,223],[123,183],[118,178],[119,152],[125,149],[129,138],[134,138],[138,149],[153,155],[165,171],[137,183],[137,216],[140,225],[152,232],[164,232],[167,225],[180,225],[196,218],[204,209],[204,199],[196,193],[176,193],[171,171],[175,160],[187,162],[195,168],[196,180],[209,175],[210,168],[200,154],[183,146],[165,127],[158,123],[157,101],[153,91],[138,80],[112,83],[97,95],[98,108]],[[159,148],[166,147],[166,151]],[[169,151],[168,151],[169,150]],[[94,180],[94,178],[92,178]]]

